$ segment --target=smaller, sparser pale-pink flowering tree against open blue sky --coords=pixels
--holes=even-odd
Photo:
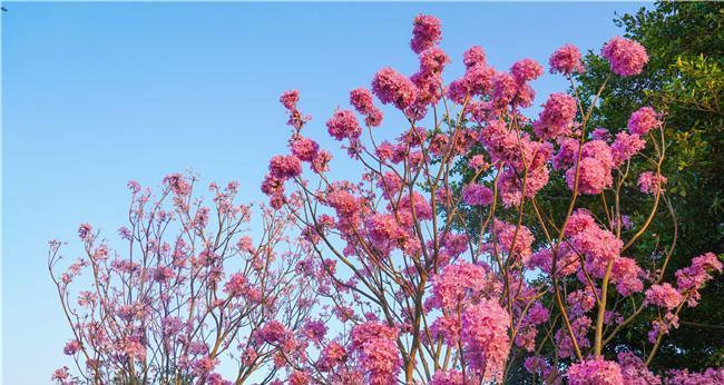
[[[213,205],[193,194],[194,177],[164,179],[158,195],[129,182],[128,226],[116,250],[90,225],[78,229],[85,255],[48,267],[72,330],[58,384],[225,384],[268,382],[280,329],[305,322],[315,295],[304,283],[309,250],[287,237],[287,215],[262,207],[256,239],[238,186],[211,185]],[[80,289],[76,289],[79,286]],[[257,374],[254,374],[257,373]]]

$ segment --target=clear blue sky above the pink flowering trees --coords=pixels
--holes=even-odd
[[[453,58],[480,45],[507,69],[547,63],[571,42],[599,50],[622,33],[614,12],[640,3],[8,3],[2,13],[2,313],[7,385],[48,384],[70,333],[46,268],[47,240],[80,223],[112,236],[129,179],[156,186],[193,169],[241,181],[261,199],[271,156],[285,150],[278,95],[302,92],[323,122],[384,66],[412,73],[411,21],[442,19]],[[565,90],[558,77],[538,97]],[[387,119],[387,118],[385,118]],[[394,122],[394,120],[389,120]],[[387,127],[387,128],[384,128]],[[394,127],[383,126],[399,132]],[[330,145],[326,141],[324,144]],[[323,145],[324,145],[323,144]],[[334,145],[333,145],[334,146]],[[74,257],[70,254],[67,257]],[[70,365],[69,365],[70,366]]]

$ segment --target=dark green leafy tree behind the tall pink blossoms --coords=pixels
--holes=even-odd
[[[667,269],[669,282],[673,272],[692,257],[708,250],[724,251],[723,20],[724,4],[717,2],[657,2],[653,9],[642,8],[617,18],[615,23],[625,29],[626,37],[646,47],[650,61],[640,76],[610,78],[591,120],[591,127],[616,131],[626,126],[638,106],[650,105],[665,113],[668,148],[663,172],[668,177],[666,189],[676,211],[677,231],[674,221],[659,220],[654,236],[638,247],[643,251],[677,237]],[[578,92],[590,100],[609,68],[594,52],[587,55],[585,63]],[[623,204],[628,211],[637,213],[637,201]],[[684,312],[679,329],[666,337],[655,368],[724,365],[723,295],[722,278],[708,285],[699,306]],[[642,317],[617,340],[619,347],[639,349],[648,327]]]

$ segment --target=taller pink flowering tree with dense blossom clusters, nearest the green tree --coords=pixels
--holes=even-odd
[[[305,132],[311,118],[299,92],[281,98],[290,154],[271,159],[262,190],[302,227],[317,256],[320,312],[334,316],[332,333],[316,327],[314,345],[284,352],[277,365],[287,381],[500,384],[520,358],[530,383],[722,383],[722,371],[662,377],[647,368],[682,308],[696,306],[723,268],[708,253],[667,283],[676,237],[634,247],[655,220],[676,223],[661,174],[665,115],[640,107],[615,136],[589,127],[597,96],[577,92],[575,73],[585,68],[567,45],[549,66],[573,92],[550,95],[530,119],[524,112],[541,65],[522,59],[499,71],[472,47],[464,75],[446,83],[440,40],[437,18],[415,18],[419,71],[381,69],[371,90],[350,92],[353,109],[326,121],[359,166],[356,179],[333,179],[332,152]],[[620,37],[603,56],[608,77],[636,76],[648,61],[644,47]],[[395,139],[375,138],[383,111],[374,97],[404,117]],[[566,187],[552,197],[562,210],[541,199],[555,184]],[[648,197],[647,215],[622,213],[628,194]],[[610,342],[643,314],[654,315],[648,342],[617,352]],[[310,328],[286,329],[283,342],[301,347],[294,342]]]

